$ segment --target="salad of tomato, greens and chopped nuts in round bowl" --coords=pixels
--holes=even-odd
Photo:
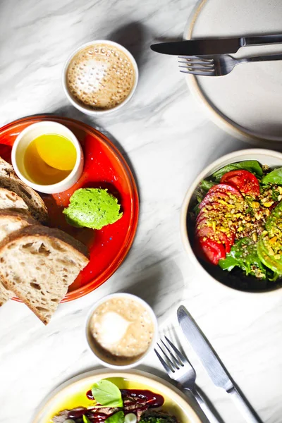
[[[252,288],[281,278],[282,168],[255,160],[228,164],[202,180],[196,198],[197,257],[241,281],[251,277]]]

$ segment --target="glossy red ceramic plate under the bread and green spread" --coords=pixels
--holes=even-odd
[[[0,156],[11,163],[11,146],[17,135],[38,121],[56,121],[66,125],[78,137],[85,157],[82,176],[70,190],[55,195],[42,194],[49,211],[50,226],[70,233],[90,250],[90,263],[69,287],[68,294],[63,298],[63,302],[66,302],[102,285],[125,259],[137,228],[138,193],[128,164],[111,141],[98,130],[73,119],[32,116],[4,126],[0,129]],[[108,188],[118,198],[123,217],[100,231],[68,225],[62,214],[63,208],[68,206],[69,197],[75,190],[85,187]]]

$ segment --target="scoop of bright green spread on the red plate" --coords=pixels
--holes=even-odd
[[[78,228],[102,229],[121,219],[120,204],[114,195],[102,188],[80,188],[63,210],[66,221]]]

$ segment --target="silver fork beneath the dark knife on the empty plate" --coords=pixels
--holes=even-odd
[[[282,60],[282,54],[269,54],[268,56],[254,56],[243,59],[235,59],[229,54],[221,54],[220,56],[178,56],[178,65],[180,72],[190,73],[192,75],[204,76],[222,76],[233,71],[235,66],[240,63],[250,63],[259,61],[276,61]]]

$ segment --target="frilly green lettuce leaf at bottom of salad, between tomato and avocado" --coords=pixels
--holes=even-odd
[[[228,271],[238,266],[245,271],[246,275],[266,278],[266,269],[257,255],[257,245],[250,238],[242,238],[236,241],[226,258],[219,260],[219,266]]]

